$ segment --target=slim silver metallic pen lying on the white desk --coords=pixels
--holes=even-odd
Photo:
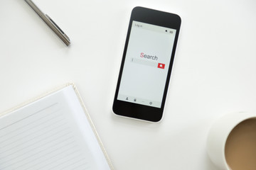
[[[40,16],[40,18],[50,27],[50,29],[53,30],[53,32],[55,34],[58,35],[58,37],[63,40],[63,42],[65,43],[65,45],[70,45],[70,39],[68,38],[67,35],[65,35],[65,33],[63,32],[63,30],[61,30],[57,24],[50,18],[50,16],[48,16],[47,14],[43,13],[37,6],[36,4],[33,3],[33,1],[31,0],[24,0],[26,1],[26,3],[31,6],[31,8],[33,9],[33,11],[35,11],[38,16]]]

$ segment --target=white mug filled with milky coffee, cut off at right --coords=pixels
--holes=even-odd
[[[213,123],[207,152],[219,169],[256,169],[256,114],[230,113]]]

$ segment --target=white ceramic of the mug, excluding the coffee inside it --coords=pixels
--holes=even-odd
[[[228,135],[236,125],[250,118],[256,118],[256,114],[236,112],[224,115],[213,123],[208,132],[207,152],[215,166],[223,170],[230,170],[225,159],[225,143],[228,139]]]

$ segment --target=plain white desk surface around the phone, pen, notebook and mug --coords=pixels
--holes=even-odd
[[[255,0],[34,0],[70,47],[22,0],[0,5],[0,113],[72,81],[115,169],[215,167],[206,153],[214,120],[256,112]],[[112,114],[134,6],[182,18],[164,118],[144,123]]]

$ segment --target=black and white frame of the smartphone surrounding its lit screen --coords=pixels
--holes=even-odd
[[[144,106],[144,105],[137,104],[137,103],[130,103],[130,102],[126,102],[126,101],[117,100],[117,95],[119,93],[120,81],[122,79],[122,72],[124,69],[124,61],[125,61],[125,57],[126,57],[126,53],[127,53],[127,47],[129,44],[129,36],[131,33],[131,29],[132,29],[132,21],[149,23],[149,24],[153,24],[156,26],[163,26],[166,28],[172,28],[172,29],[176,30],[176,35],[175,35],[175,39],[174,39],[174,47],[171,52],[171,60],[170,60],[170,64],[169,64],[168,74],[166,77],[166,84],[164,87],[164,95],[163,95],[162,102],[161,102],[161,108],[155,108],[155,107],[151,107],[151,106]],[[117,89],[116,89],[115,95],[114,95],[114,103],[113,103],[112,110],[115,114],[126,116],[129,118],[136,118],[136,119],[151,121],[151,122],[159,122],[161,120],[161,118],[163,116],[163,112],[164,112],[164,104],[166,102],[166,95],[167,95],[169,81],[170,81],[170,77],[171,77],[171,69],[172,69],[172,66],[174,63],[174,55],[176,52],[176,45],[177,45],[177,41],[178,41],[178,34],[179,34],[180,27],[181,27],[181,18],[174,13],[166,13],[163,11],[156,11],[154,9],[144,8],[144,7],[140,7],[140,6],[133,8],[131,18],[129,21],[129,28],[127,31],[127,38],[126,38],[125,45],[124,45],[122,63],[121,63],[119,77],[118,77],[118,81],[117,81]]]

